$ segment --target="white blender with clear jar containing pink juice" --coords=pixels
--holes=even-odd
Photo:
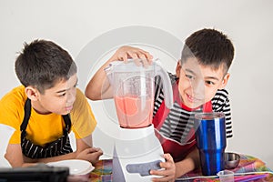
[[[158,62],[158,61],[157,61]],[[153,62],[150,66],[136,66],[114,61],[106,67],[106,75],[113,90],[119,123],[113,154],[113,181],[149,181],[151,169],[161,169],[165,161],[163,149],[152,124],[155,76],[160,76],[166,106],[173,106],[172,86],[167,72]]]

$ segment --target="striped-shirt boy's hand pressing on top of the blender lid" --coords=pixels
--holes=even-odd
[[[117,49],[115,55],[112,56],[112,60],[127,62],[128,59],[133,59],[136,66],[148,66],[152,63],[153,56],[147,51],[132,46],[122,46]]]

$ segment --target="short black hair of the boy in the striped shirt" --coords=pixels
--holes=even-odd
[[[229,68],[234,57],[234,47],[227,35],[215,29],[201,29],[188,36],[182,50],[181,64],[188,57],[196,57],[199,64],[212,66],[214,69],[224,66]]]

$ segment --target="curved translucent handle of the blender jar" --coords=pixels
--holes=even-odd
[[[157,62],[158,63],[158,62]],[[167,74],[167,71],[162,66],[156,64],[157,75],[161,77],[163,84],[163,92],[165,96],[165,105],[167,108],[171,108],[174,104],[173,101],[173,86],[171,80]]]

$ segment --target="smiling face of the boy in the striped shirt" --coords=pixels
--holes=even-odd
[[[219,66],[217,70],[212,66],[201,66],[195,57],[187,58],[182,66],[180,61],[178,62],[177,76],[182,102],[190,108],[196,108],[210,101],[217,89],[223,89],[227,85],[229,78],[223,66]]]

